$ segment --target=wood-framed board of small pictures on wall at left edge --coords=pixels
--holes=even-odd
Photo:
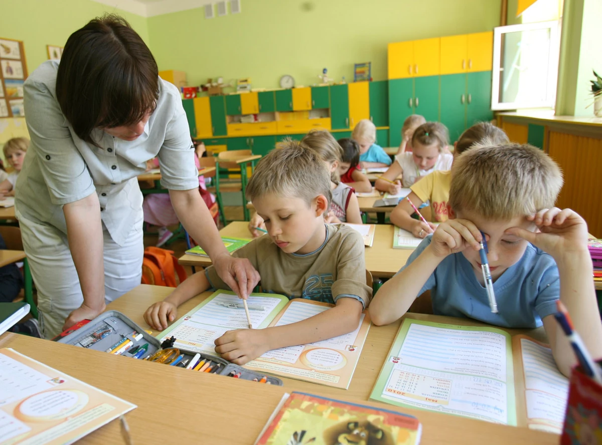
[[[23,84],[26,78],[23,42],[0,38],[0,118],[25,116]]]

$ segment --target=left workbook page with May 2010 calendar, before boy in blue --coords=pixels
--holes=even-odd
[[[510,342],[496,328],[407,318],[370,399],[515,426]]]

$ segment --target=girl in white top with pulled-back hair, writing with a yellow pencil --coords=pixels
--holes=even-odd
[[[414,185],[421,177],[433,171],[450,170],[453,156],[445,153],[447,128],[439,122],[422,124],[412,137],[412,152],[395,156],[395,162],[377,179],[376,189],[397,194],[403,187]],[[399,180],[401,176],[401,180]]]

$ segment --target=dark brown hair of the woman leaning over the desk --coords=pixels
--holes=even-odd
[[[57,73],[57,100],[75,134],[87,143],[95,127],[142,120],[159,97],[157,62],[122,17],[90,20],[69,36]]]

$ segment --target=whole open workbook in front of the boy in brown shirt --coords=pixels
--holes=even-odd
[[[255,329],[302,321],[334,306],[302,298],[289,301],[276,293],[252,293],[247,302]],[[244,328],[247,328],[247,319],[240,299],[234,292],[217,290],[159,334],[158,339],[173,336],[176,348],[216,355],[214,340],[226,331]],[[370,318],[364,311],[358,327],[349,334],[274,349],[244,367],[347,389],[369,328]]]

